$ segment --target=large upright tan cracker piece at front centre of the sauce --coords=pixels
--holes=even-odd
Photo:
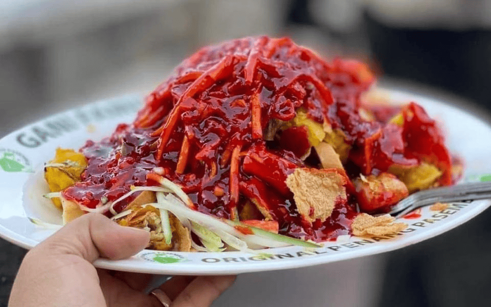
[[[325,221],[337,202],[347,202],[346,178],[338,170],[297,168],[286,178],[298,212],[308,222]]]

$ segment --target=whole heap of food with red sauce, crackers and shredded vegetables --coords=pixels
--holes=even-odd
[[[436,122],[414,102],[366,98],[374,81],[365,64],[326,62],[288,38],[205,47],[132,124],[80,152],[58,149],[46,167],[50,197],[65,222],[104,213],[150,231],[159,250],[400,231],[366,213],[457,174]]]

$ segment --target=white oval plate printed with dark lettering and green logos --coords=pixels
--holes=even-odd
[[[491,173],[491,127],[458,108],[408,92],[390,91],[397,102],[414,100],[444,123],[447,144],[465,161],[465,179]],[[141,97],[129,96],[86,105],[26,126],[0,140],[0,235],[10,242],[32,248],[53,230],[32,224],[28,217],[61,223],[60,212],[41,195],[47,191],[43,164],[56,147],[79,148],[86,140],[100,140],[118,123],[131,122]],[[423,208],[420,217],[401,218],[409,227],[397,234],[370,238],[344,237],[319,249],[285,247],[259,254],[242,252],[184,253],[144,250],[126,260],[99,259],[100,268],[154,274],[235,274],[299,268],[372,255],[405,247],[448,231],[470,220],[491,205],[476,201],[452,205],[441,212]]]

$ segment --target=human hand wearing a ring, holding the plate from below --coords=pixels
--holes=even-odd
[[[144,249],[149,233],[122,227],[90,213],[69,223],[29,251],[10,294],[10,307],[87,306],[161,307],[143,292],[152,275],[96,269],[97,258],[124,259]],[[161,295],[172,307],[209,306],[231,286],[235,276],[176,276]]]

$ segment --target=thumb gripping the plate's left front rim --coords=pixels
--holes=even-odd
[[[72,254],[94,262],[99,257],[124,259],[143,250],[150,234],[123,227],[100,213],[87,213],[66,224],[35,249],[45,254]]]

